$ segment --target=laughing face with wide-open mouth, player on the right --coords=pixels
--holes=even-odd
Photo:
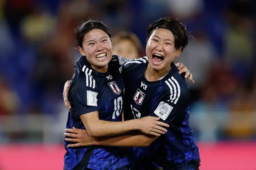
[[[174,37],[170,30],[159,28],[147,41],[146,55],[150,67],[156,71],[169,69],[171,62],[179,56],[181,48],[175,50]]]

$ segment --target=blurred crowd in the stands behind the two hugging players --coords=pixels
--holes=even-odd
[[[50,115],[64,130],[62,91],[80,56],[74,29],[82,20],[103,21],[114,54],[138,58],[146,27],[177,16],[194,37],[175,62],[195,81],[190,118],[197,140],[255,140],[255,13],[253,0],[0,0],[0,120]]]

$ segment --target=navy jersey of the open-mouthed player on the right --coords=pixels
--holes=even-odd
[[[130,60],[122,67],[126,101],[124,119],[155,116],[170,127],[166,134],[158,137],[149,147],[135,148],[137,158],[133,157],[133,160],[150,158],[164,169],[191,160],[200,162],[198,147],[188,121],[189,88],[186,80],[172,63],[171,69],[160,80],[149,82],[144,77],[147,65],[147,57],[143,57]]]

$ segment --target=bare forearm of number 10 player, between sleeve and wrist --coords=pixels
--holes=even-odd
[[[120,122],[98,120],[97,123],[86,127],[86,129],[91,137],[114,136],[138,130],[138,119]]]

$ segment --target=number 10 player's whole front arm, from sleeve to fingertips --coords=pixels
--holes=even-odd
[[[76,84],[72,85],[73,89],[70,89],[71,96],[73,97],[75,114],[80,116],[90,136],[112,136],[133,130],[157,136],[166,132],[165,128],[161,126],[168,127],[169,125],[159,122],[159,118],[156,117],[148,116],[140,120],[133,119],[120,122],[100,120],[97,105],[97,86],[95,88],[88,87],[89,85],[86,84],[91,83],[86,83],[88,79],[85,78],[84,73],[77,76]]]

